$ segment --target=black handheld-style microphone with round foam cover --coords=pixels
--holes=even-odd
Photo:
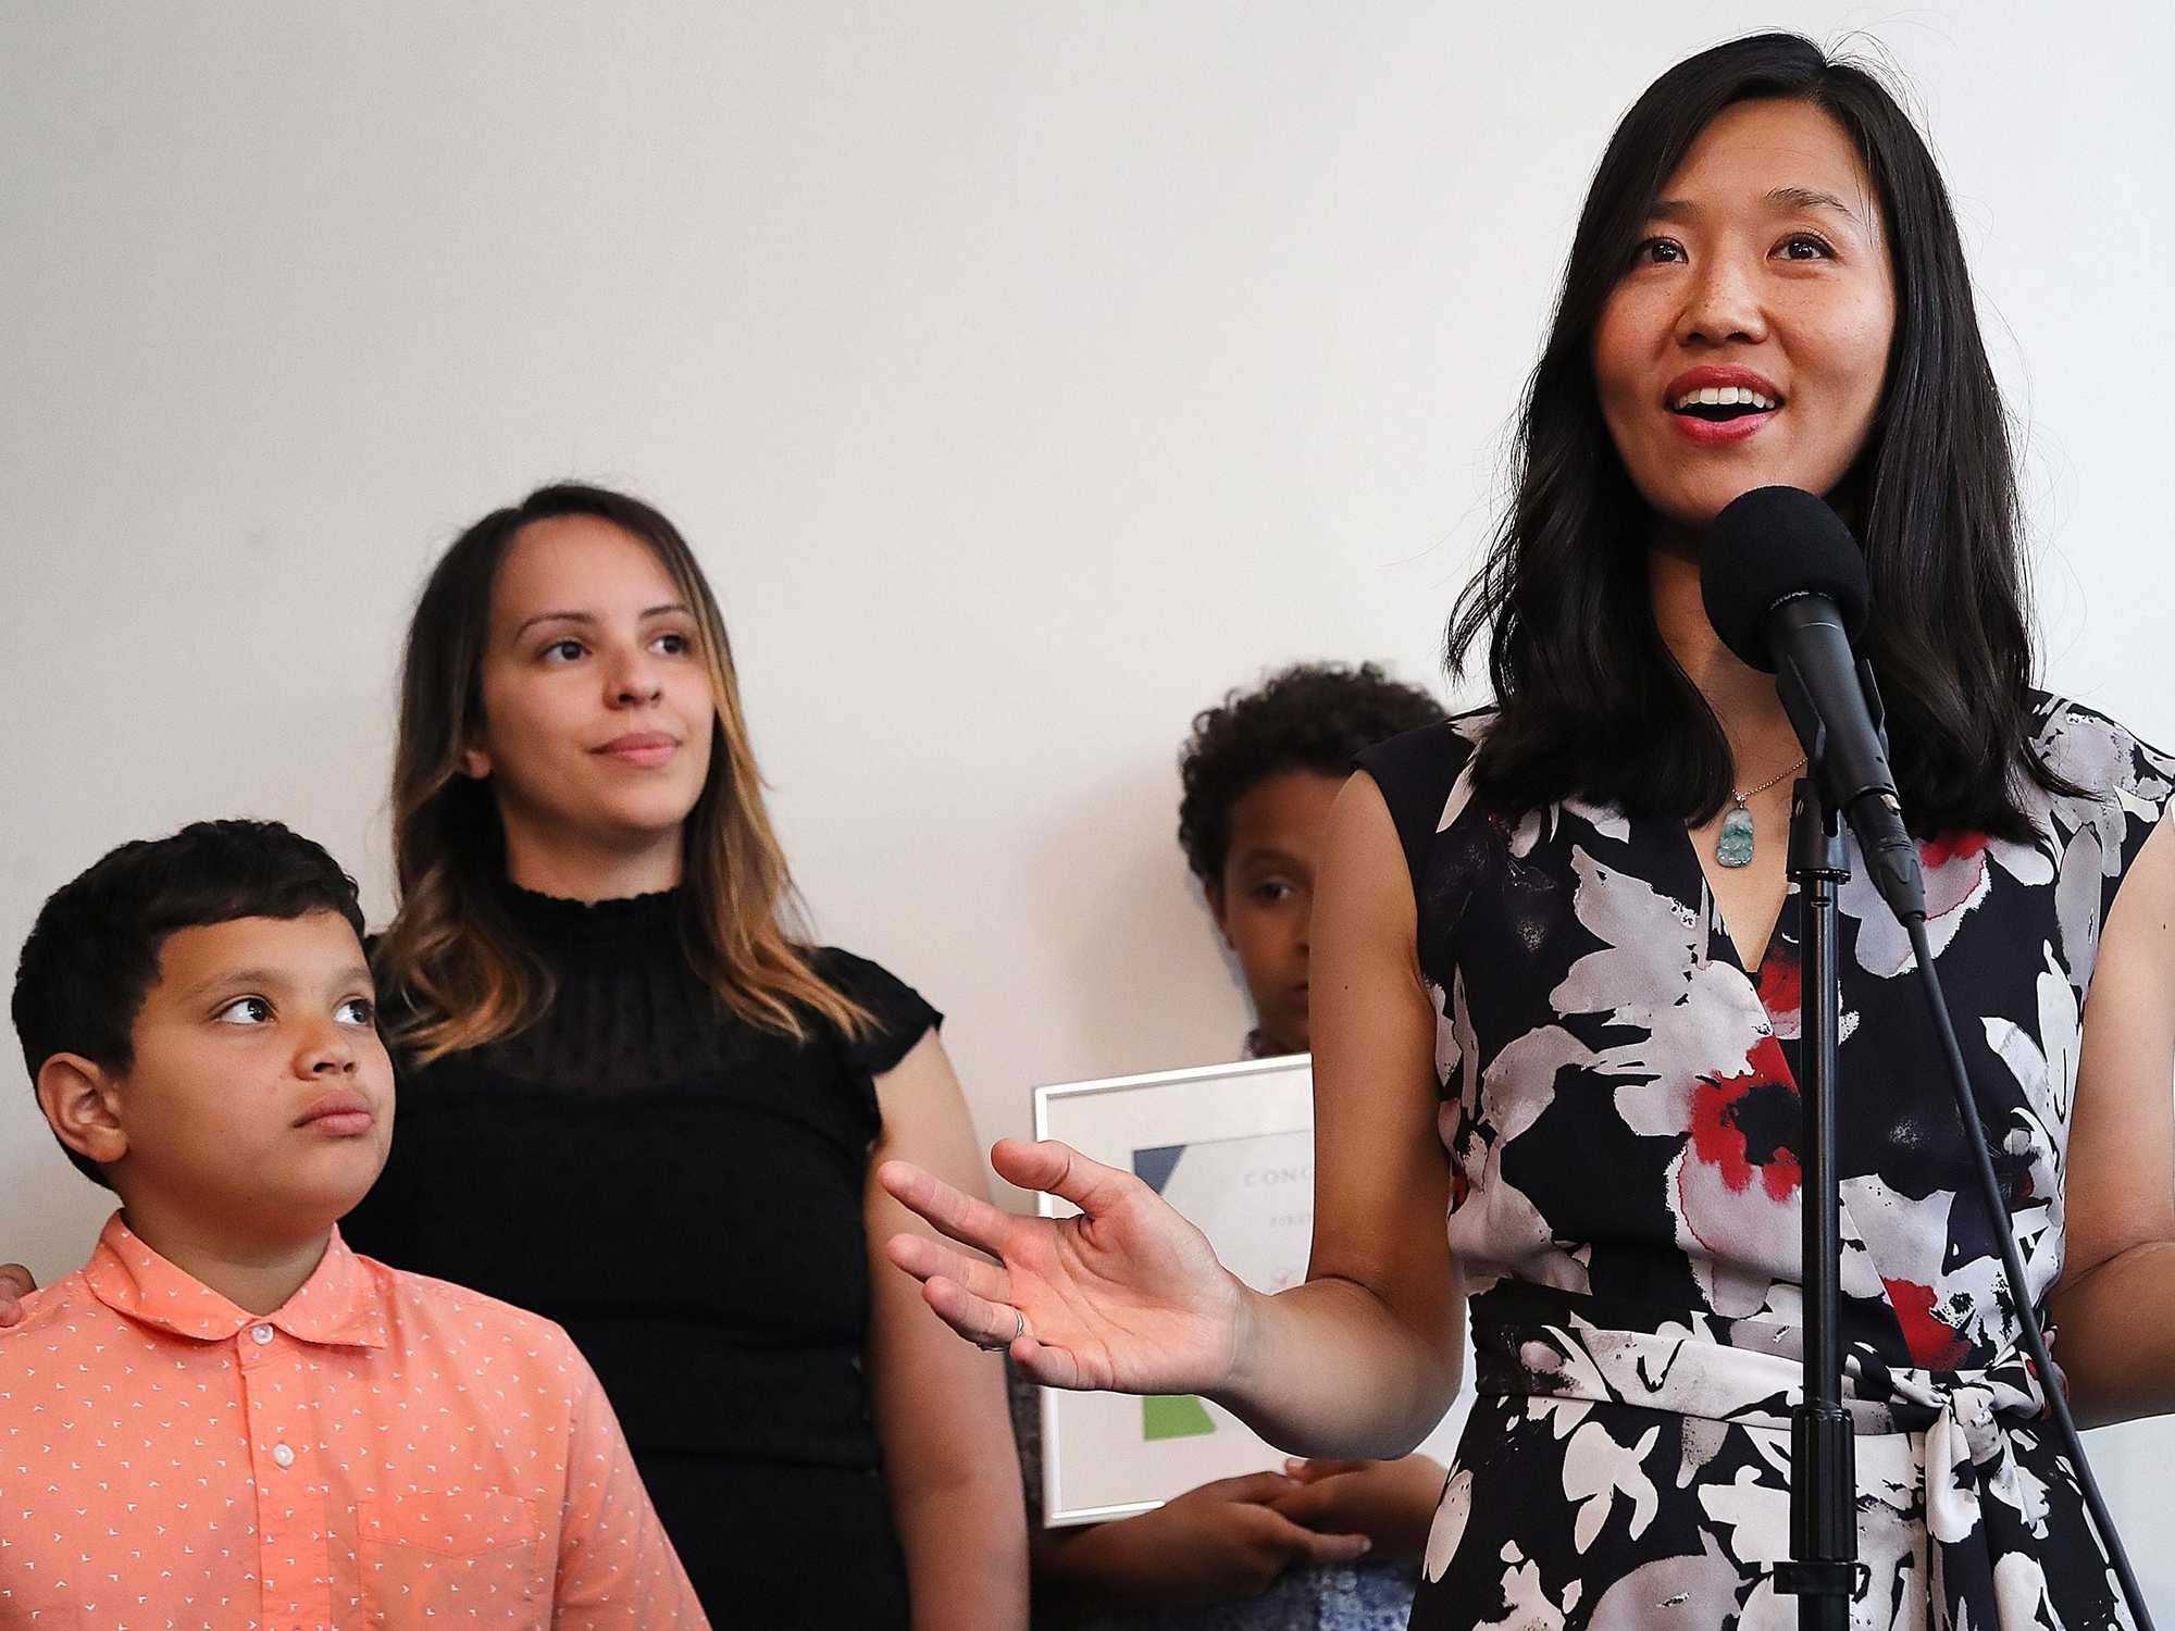
[[[1723,644],[1775,676],[1814,783],[1857,835],[1881,900],[1901,922],[1923,922],[1925,879],[1888,768],[1881,694],[1851,650],[1873,598],[1851,528],[1807,491],[1755,487],[1714,518],[1699,594]]]

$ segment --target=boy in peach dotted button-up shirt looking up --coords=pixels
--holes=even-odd
[[[707,1624],[566,1333],[339,1240],[394,1124],[361,926],[270,822],[39,913],[15,1029],[122,1209],[0,1329],[0,1627]]]

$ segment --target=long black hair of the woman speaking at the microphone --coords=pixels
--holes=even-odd
[[[2031,750],[2031,639],[2008,420],[1934,154],[1866,70],[1797,35],[1755,35],[1670,67],[1616,126],[1564,267],[1518,422],[1516,496],[1451,613],[1446,659],[1488,639],[1499,718],[1475,765],[1490,800],[1570,794],[1712,818],[1729,744],[1655,628],[1651,513],[1594,391],[1594,326],[1662,187],[1723,109],[1810,102],[1857,148],[1888,224],[1897,324],[1873,431],[1831,498],[1873,578],[1860,650],[1888,705],[1897,787],[1921,833],[2029,837],[2018,776],[2073,792]]]

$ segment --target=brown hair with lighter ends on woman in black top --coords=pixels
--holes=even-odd
[[[724,618],[694,550],[639,498],[561,483],[461,533],[409,622],[391,792],[400,909],[374,959],[394,1039],[428,1063],[526,1029],[555,996],[550,966],[507,911],[498,805],[487,783],[463,772],[461,755],[483,720],[498,565],[524,526],[557,515],[594,515],[648,546],[698,624],[716,722],[709,779],[683,826],[687,961],[726,1009],[759,1029],[803,1037],[820,1020],[863,1035],[868,1011],[811,961],[800,898],[763,809]]]

